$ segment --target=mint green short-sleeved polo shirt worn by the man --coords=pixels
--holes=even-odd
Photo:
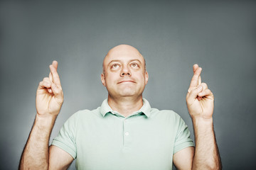
[[[142,108],[125,118],[107,103],[72,115],[52,145],[76,159],[77,169],[172,169],[173,155],[193,146],[190,132],[174,111]]]

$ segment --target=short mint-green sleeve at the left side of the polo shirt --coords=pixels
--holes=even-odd
[[[63,127],[60,128],[60,132],[51,143],[51,145],[60,147],[60,149],[63,149],[65,152],[68,152],[74,159],[77,155],[77,147],[75,142],[77,124],[76,121],[77,114],[74,114],[64,123]]]

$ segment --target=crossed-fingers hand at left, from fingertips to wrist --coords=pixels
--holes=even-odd
[[[39,83],[36,91],[36,111],[38,115],[58,115],[63,104],[63,90],[57,72],[58,62],[50,65],[49,77]]]

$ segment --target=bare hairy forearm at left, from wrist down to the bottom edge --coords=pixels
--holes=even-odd
[[[48,142],[56,116],[36,115],[21,156],[20,169],[48,169]]]

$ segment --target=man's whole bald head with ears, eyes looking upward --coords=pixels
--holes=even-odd
[[[110,97],[142,96],[149,76],[137,49],[129,45],[112,48],[105,57],[103,70],[102,84]]]

